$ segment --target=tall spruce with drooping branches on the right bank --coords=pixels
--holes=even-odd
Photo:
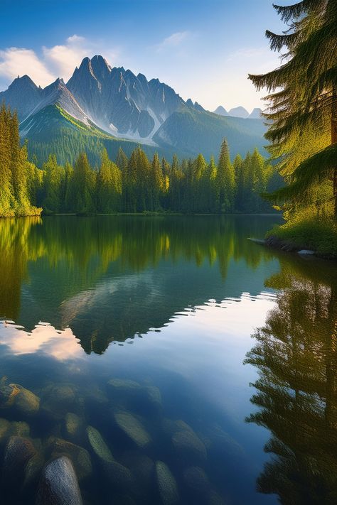
[[[289,185],[272,193],[277,201],[300,205],[321,198],[324,180],[337,219],[337,2],[303,0],[274,6],[289,29],[266,32],[272,50],[286,48],[284,63],[264,75],[250,75],[267,87],[270,152]],[[295,207],[296,208],[296,207]]]

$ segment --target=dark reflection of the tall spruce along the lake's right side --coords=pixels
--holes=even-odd
[[[271,432],[257,479],[282,504],[337,503],[337,277],[317,261],[281,261],[277,306],[246,363],[259,370],[247,421]]]

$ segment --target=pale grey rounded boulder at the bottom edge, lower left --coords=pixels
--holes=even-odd
[[[36,505],[82,505],[75,469],[67,456],[58,457],[43,469]]]

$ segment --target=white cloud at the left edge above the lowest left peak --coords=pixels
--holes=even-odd
[[[46,86],[55,80],[53,72],[38,59],[31,49],[8,48],[0,50],[0,75],[13,80],[18,75],[29,75],[36,84]]]

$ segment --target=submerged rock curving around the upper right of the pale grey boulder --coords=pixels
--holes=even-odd
[[[48,439],[47,447],[49,454],[53,458],[60,455],[67,455],[70,458],[75,467],[77,479],[86,479],[92,474],[90,455],[84,447],[56,437]]]

